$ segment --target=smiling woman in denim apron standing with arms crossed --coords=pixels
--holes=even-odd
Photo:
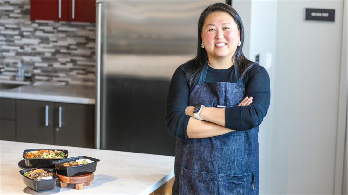
[[[258,131],[270,102],[267,71],[242,52],[244,29],[224,3],[198,21],[194,59],[175,71],[166,121],[176,136],[172,194],[258,194]]]

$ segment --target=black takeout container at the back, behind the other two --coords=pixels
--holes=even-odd
[[[29,167],[54,167],[54,164],[52,164],[52,162],[57,161],[57,160],[61,160],[61,159],[27,159],[24,157],[24,154],[26,152],[30,152],[30,151],[39,151],[39,150],[52,150],[54,151],[55,149],[26,149],[23,152],[23,159],[25,161],[25,165],[29,166]],[[57,151],[62,151],[64,153],[66,153],[66,157],[68,157],[69,153],[68,150],[66,149],[56,149]],[[66,159],[66,158],[64,158]]]

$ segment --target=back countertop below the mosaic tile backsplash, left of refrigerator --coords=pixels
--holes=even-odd
[[[33,83],[13,89],[0,89],[0,97],[55,101],[76,104],[95,104],[94,86],[76,84],[55,85],[47,83]]]

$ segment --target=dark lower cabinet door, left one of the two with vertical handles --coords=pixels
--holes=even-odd
[[[54,103],[17,99],[17,141],[54,144]]]

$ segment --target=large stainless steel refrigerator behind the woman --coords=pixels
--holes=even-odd
[[[170,80],[196,54],[200,13],[225,1],[96,2],[95,147],[174,156],[165,122]]]

